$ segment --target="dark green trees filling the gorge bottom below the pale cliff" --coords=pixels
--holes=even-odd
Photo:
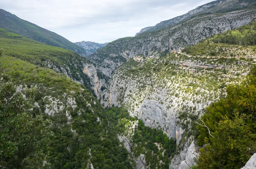
[[[169,139],[162,130],[146,127],[142,120],[131,117],[124,108],[111,107],[107,115],[111,125],[115,126],[114,130],[130,140],[133,158],[143,154],[150,167],[169,169],[170,158],[176,150],[173,138]]]

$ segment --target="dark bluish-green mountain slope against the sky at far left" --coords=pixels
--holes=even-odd
[[[73,44],[54,32],[48,31],[47,29],[41,28],[40,26],[26,20],[22,20],[3,9],[0,9],[0,28],[47,45],[69,49],[81,56],[88,56],[87,51],[85,51],[84,48]]]

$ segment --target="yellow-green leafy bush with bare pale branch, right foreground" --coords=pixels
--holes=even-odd
[[[207,108],[198,125],[198,169],[240,169],[256,150],[256,65],[241,85],[230,85],[227,98]]]

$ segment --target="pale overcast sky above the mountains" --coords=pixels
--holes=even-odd
[[[0,0],[0,8],[71,42],[111,42],[213,0]]]

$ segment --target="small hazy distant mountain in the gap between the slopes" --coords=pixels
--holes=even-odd
[[[90,41],[82,41],[82,42],[75,42],[76,45],[84,48],[87,52],[88,55],[91,55],[93,54],[93,52],[95,52],[96,50],[98,50],[99,48],[103,48],[105,47],[106,45],[108,45],[108,42],[107,43],[103,43],[103,44],[99,44],[99,43],[96,43],[96,42],[90,42]]]

